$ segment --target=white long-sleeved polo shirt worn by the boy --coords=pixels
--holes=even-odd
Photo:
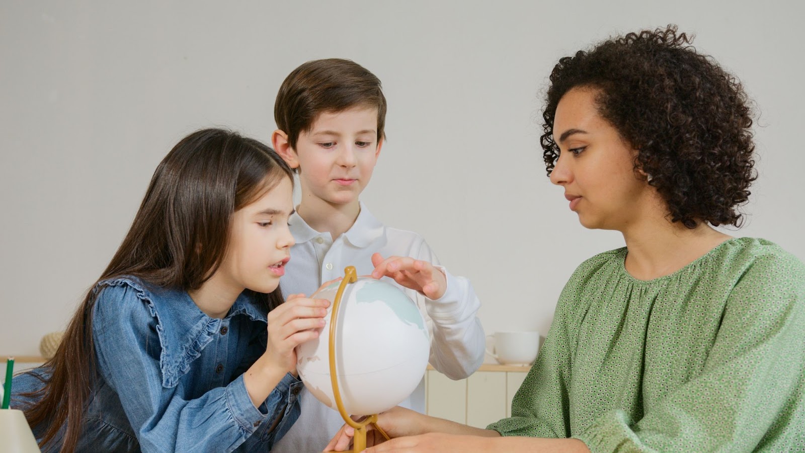
[[[291,261],[280,279],[280,287],[286,295],[310,296],[324,281],[344,276],[347,266],[355,266],[359,276],[368,275],[374,270],[371,256],[375,252],[384,258],[411,256],[439,264],[422,236],[383,225],[363,202],[353,226],[335,241],[328,232],[320,233],[308,226],[299,214],[293,214],[288,222],[296,244],[291,247]],[[477,318],[481,302],[466,278],[452,276],[446,270],[444,274],[448,288],[435,301],[413,289],[398,286],[419,306],[431,332],[430,364],[452,379],[464,379],[484,361],[485,336]],[[397,285],[394,280],[383,278]],[[322,451],[344,424],[337,410],[321,404],[307,389],[303,389],[299,397],[302,414],[271,451]],[[424,379],[400,405],[425,412]]]

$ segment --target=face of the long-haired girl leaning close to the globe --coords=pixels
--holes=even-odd
[[[235,293],[245,288],[258,293],[277,289],[294,245],[288,229],[292,192],[291,180],[283,177],[273,189],[233,214],[226,256],[216,273]]]

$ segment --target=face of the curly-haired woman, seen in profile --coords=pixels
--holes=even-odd
[[[574,88],[559,100],[553,127],[559,160],[551,182],[564,187],[583,226],[624,231],[656,199],[634,170],[637,150],[598,114],[598,93]]]

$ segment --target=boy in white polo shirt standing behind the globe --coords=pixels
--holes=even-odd
[[[386,98],[374,74],[349,60],[314,60],[283,81],[271,142],[299,173],[302,200],[289,223],[296,240],[281,280],[286,294],[310,295],[353,265],[388,276],[419,306],[431,330],[430,363],[452,379],[481,366],[485,336],[478,301],[463,277],[438,264],[424,239],[384,226],[358,199],[382,148]],[[371,359],[371,358],[368,358]],[[425,410],[424,380],[401,405]],[[307,390],[302,414],[273,451],[321,451],[344,424]]]

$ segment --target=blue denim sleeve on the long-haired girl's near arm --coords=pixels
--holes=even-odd
[[[194,399],[181,396],[181,382],[163,386],[161,327],[129,286],[101,290],[93,316],[98,371],[118,394],[142,451],[233,451],[263,422],[282,418],[295,381],[291,375],[260,409],[252,404],[243,376]]]

